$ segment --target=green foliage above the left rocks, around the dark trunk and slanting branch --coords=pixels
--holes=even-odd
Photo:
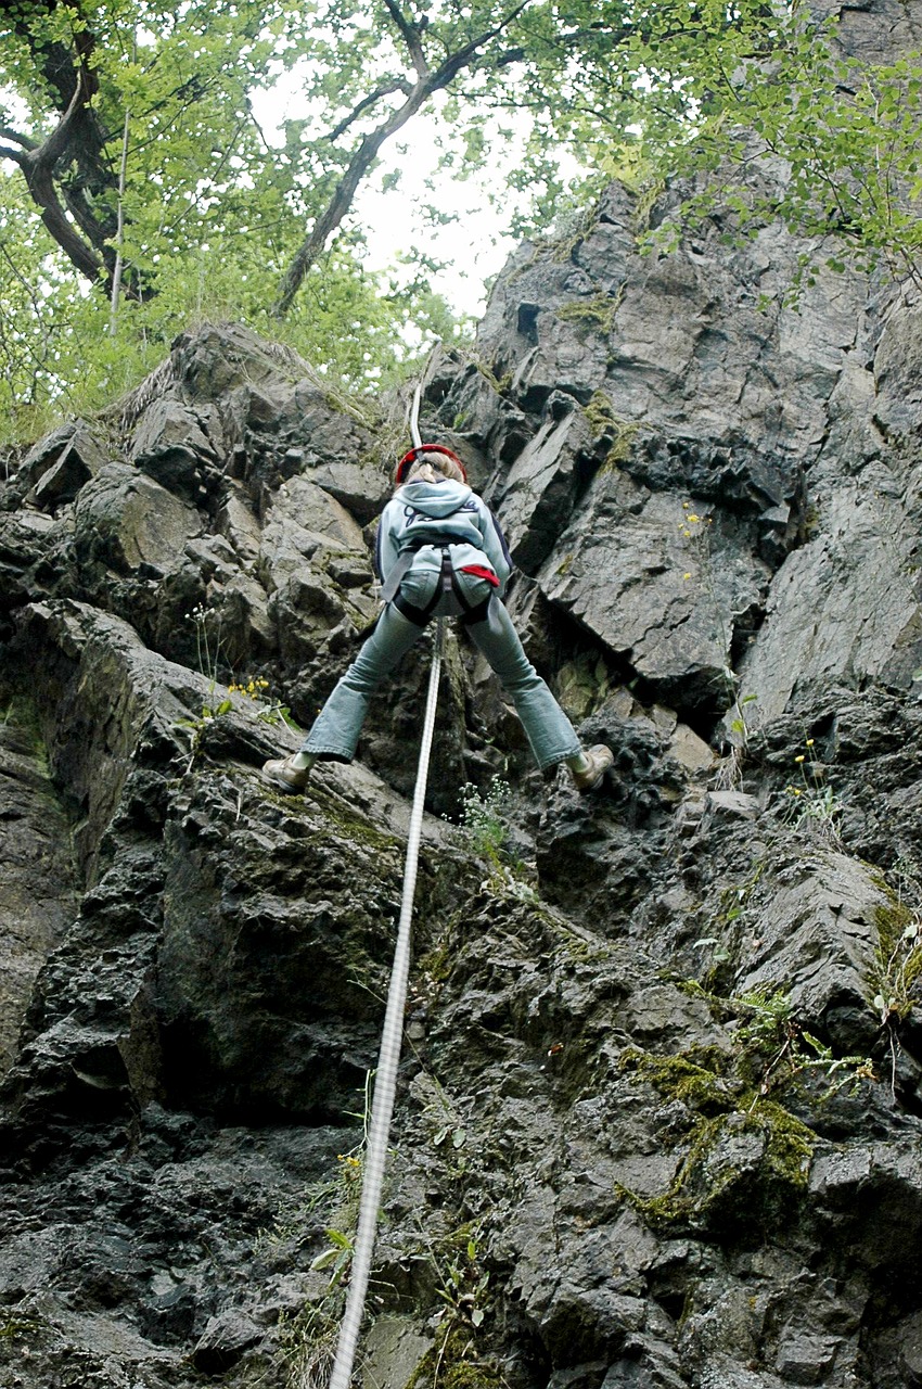
[[[355,7],[358,18],[364,8]],[[79,13],[25,8],[24,22],[0,36],[10,106],[0,114],[7,439],[33,438],[50,407],[86,414],[110,403],[165,356],[179,331],[203,318],[280,335],[333,379],[358,386],[401,378],[414,353],[457,335],[425,267],[410,276],[362,268],[355,226],[308,276],[285,328],[271,318],[279,279],[344,160],[332,128],[380,60],[362,65],[368,44],[355,42],[354,26],[339,24],[342,10],[312,7],[308,17],[285,0],[179,8],[85,0]],[[39,219],[15,164],[19,144],[40,143],[62,110],[50,40],[58,44],[61,72],[90,72],[86,81],[96,89],[83,119],[87,135],[67,147],[56,169],[57,199],[72,203],[78,225],[71,218],[71,226],[99,267],[90,288]],[[337,44],[337,67],[321,71]],[[304,103],[312,115],[289,122],[282,149],[274,149],[254,100],[280,68],[296,64],[305,64]],[[125,129],[121,190],[111,171],[121,164]],[[90,183],[78,199],[78,185]],[[117,244],[125,272],[114,313]]]

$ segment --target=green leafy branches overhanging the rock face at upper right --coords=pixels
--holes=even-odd
[[[841,56],[835,19],[816,22],[807,4],[741,4],[723,42],[701,44],[694,63],[689,43],[679,44],[658,72],[661,83],[679,82],[689,103],[679,113],[668,101],[648,124],[661,164],[716,176],[651,244],[668,246],[683,225],[710,217],[730,243],[780,218],[825,246],[818,258],[804,256],[793,301],[823,261],[836,272],[883,268],[922,283],[921,54],[866,64]],[[765,158],[783,161],[783,186],[760,179]]]

